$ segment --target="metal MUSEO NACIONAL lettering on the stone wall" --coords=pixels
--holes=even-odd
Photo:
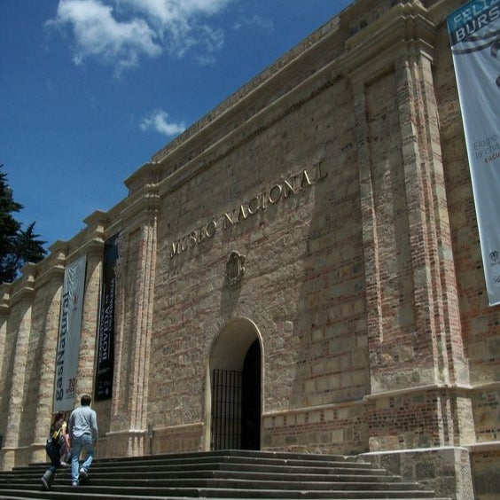
[[[189,248],[197,246],[207,239],[214,238],[219,228],[227,230],[248,217],[265,210],[267,207],[275,205],[278,201],[298,194],[308,186],[324,179],[326,175],[322,172],[321,167],[321,163],[316,163],[312,168],[309,168],[309,171],[304,168],[301,172],[293,174],[271,185],[269,189],[257,193],[252,199],[242,203],[239,207],[224,212],[220,217],[212,219],[195,230],[191,230],[182,238],[170,243],[170,258],[184,253]]]

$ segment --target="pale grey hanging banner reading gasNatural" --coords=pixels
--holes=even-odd
[[[66,267],[61,297],[54,382],[54,412],[73,410],[82,331],[85,255]]]

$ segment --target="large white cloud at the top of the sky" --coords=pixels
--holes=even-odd
[[[116,67],[137,66],[162,51],[182,58],[188,51],[207,62],[223,46],[223,30],[207,24],[234,0],[59,0],[48,26],[70,28],[74,62],[98,59]]]

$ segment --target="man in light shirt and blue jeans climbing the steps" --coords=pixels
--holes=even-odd
[[[71,412],[67,427],[71,445],[71,480],[73,486],[89,480],[89,469],[94,457],[94,445],[98,441],[98,416],[90,408],[92,398],[82,395],[81,406]],[[80,466],[82,449],[87,452],[85,461]]]

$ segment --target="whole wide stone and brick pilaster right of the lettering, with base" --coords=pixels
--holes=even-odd
[[[389,15],[399,14],[387,20],[387,50],[365,53],[363,70],[351,74],[374,450],[474,439],[432,71],[436,30],[417,4]],[[367,51],[383,37],[390,30],[364,33]]]

